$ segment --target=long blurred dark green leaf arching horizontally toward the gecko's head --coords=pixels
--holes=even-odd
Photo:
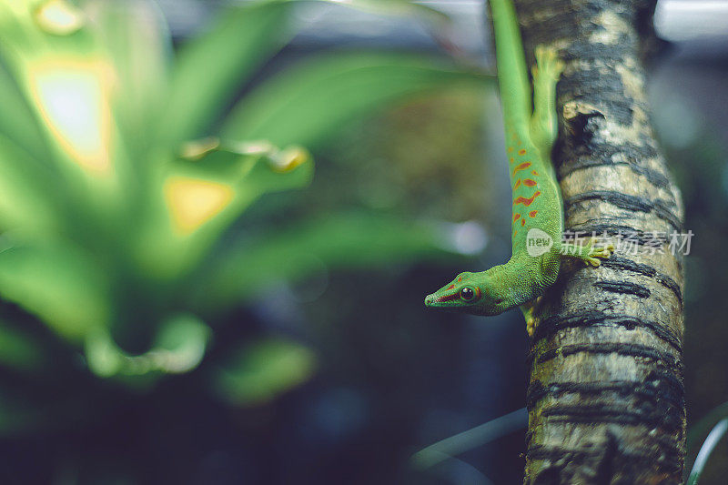
[[[436,228],[398,217],[362,213],[321,217],[220,254],[201,277],[199,303],[208,309],[226,308],[280,282],[306,278],[321,264],[381,268],[420,258],[453,258],[441,243]]]

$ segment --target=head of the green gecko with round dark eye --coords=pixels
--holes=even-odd
[[[491,269],[481,273],[460,273],[450,283],[425,297],[425,306],[472,315],[500,315],[512,305],[497,288]]]

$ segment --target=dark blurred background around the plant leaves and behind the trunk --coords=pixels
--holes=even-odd
[[[462,22],[454,34],[459,55],[488,59],[485,33],[469,31],[480,25],[478,4],[445,8]],[[191,35],[214,7],[161,5],[177,40]],[[322,12],[302,20],[310,23],[304,34],[264,67],[260,79],[331,46],[442,49],[407,19],[352,17],[335,7]],[[651,66],[649,91],[657,135],[682,189],[686,227],[695,234],[685,260],[690,426],[728,400],[728,43],[710,23],[701,24],[701,35],[690,26],[693,17],[681,12],[661,14],[678,16],[661,17],[659,33],[672,45]],[[682,30],[675,27],[681,23]],[[347,31],[351,27],[355,32]],[[680,35],[684,31],[689,38]],[[472,318],[422,305],[424,295],[461,270],[508,258],[510,195],[501,169],[501,129],[495,93],[467,89],[420,97],[344,126],[337,143],[317,154],[313,184],[284,196],[298,200],[288,217],[342,207],[420,217],[442,225],[461,252],[475,254],[370,270],[323,268],[295,286],[274,288],[223,317],[204,366],[151,389],[119,389],[92,378],[71,350],[49,342],[58,364],[42,381],[30,385],[0,370],[6,386],[25,389],[53,409],[32,432],[6,433],[0,441],[0,482],[520,482],[524,421],[457,460],[423,471],[410,466],[410,456],[425,446],[524,405],[527,341],[518,312]],[[267,203],[240,227],[263,217]],[[45,335],[19,308],[5,303],[0,312]],[[218,399],[209,390],[208,369],[229,358],[230,342],[270,334],[312,349],[316,372],[256,405]],[[5,413],[0,421],[12,425],[17,419],[23,418]],[[701,483],[723,482],[726,453],[725,444],[716,450]]]

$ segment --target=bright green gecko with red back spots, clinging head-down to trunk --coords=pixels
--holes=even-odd
[[[551,164],[557,136],[556,83],[563,64],[554,50],[535,49],[533,106],[531,84],[511,0],[490,0],[498,61],[498,81],[510,160],[513,197],[512,256],[503,265],[479,273],[460,273],[425,298],[430,308],[475,315],[499,315],[521,307],[529,335],[535,325],[535,301],[556,281],[561,258],[577,258],[594,267],[614,247],[561,242],[563,202]]]

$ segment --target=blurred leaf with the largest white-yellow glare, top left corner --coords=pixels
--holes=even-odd
[[[116,126],[108,52],[74,3],[12,4],[0,6],[0,54],[37,117],[48,146],[42,161],[81,207],[116,217],[133,177]]]

